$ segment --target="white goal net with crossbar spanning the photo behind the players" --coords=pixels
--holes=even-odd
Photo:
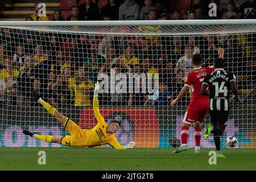
[[[193,70],[192,55],[200,53],[204,67],[213,65],[219,47],[225,49],[225,69],[236,76],[242,99],[230,101],[221,147],[230,135],[237,137],[237,147],[256,147],[255,20],[1,22],[0,28],[1,147],[61,147],[25,136],[24,129],[69,135],[35,102],[34,91],[82,128],[95,126],[97,81],[105,121],[122,123],[115,133],[119,143],[179,146],[191,90],[177,105],[170,102]],[[188,146],[195,146],[193,127]],[[213,136],[202,138],[201,146],[214,147]]]

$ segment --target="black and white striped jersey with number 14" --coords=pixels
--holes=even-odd
[[[209,85],[210,89],[210,110],[229,110],[230,81],[236,81],[236,77],[223,68],[204,77],[203,84]]]

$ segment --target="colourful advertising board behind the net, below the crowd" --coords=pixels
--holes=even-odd
[[[122,128],[116,137],[125,145],[134,140],[138,147],[171,147],[170,137],[180,138],[180,129],[185,107],[102,107],[101,113],[106,122],[119,119]],[[58,108],[61,113],[71,118],[81,127],[93,127],[96,121],[92,107]],[[238,138],[237,147],[256,147],[256,112],[251,107],[234,107],[230,110],[229,121],[224,136]],[[28,129],[40,134],[66,135],[63,127],[52,115],[40,107],[0,107],[1,147],[60,147],[27,137],[22,133]],[[209,117],[205,122],[209,122]],[[204,124],[201,126],[204,128]],[[194,147],[194,131],[189,130],[188,145]],[[202,147],[214,147],[213,137],[201,140]]]

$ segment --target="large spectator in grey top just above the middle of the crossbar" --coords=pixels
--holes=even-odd
[[[119,7],[119,20],[139,20],[139,5],[134,0],[125,0]]]

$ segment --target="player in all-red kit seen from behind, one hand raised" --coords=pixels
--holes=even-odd
[[[219,53],[222,53],[219,49]],[[223,52],[224,53],[224,52]],[[222,56],[222,55],[220,55]],[[188,150],[187,140],[188,140],[188,129],[193,124],[195,127],[195,152],[200,152],[200,140],[201,140],[201,123],[204,122],[205,116],[208,113],[209,107],[209,98],[208,96],[203,96],[201,91],[201,86],[204,81],[205,75],[212,73],[214,71],[212,67],[205,67],[202,68],[203,59],[201,55],[195,54],[192,57],[192,65],[194,71],[188,73],[187,77],[185,78],[185,84],[183,89],[180,90],[179,95],[175,100],[171,102],[171,106],[174,106],[177,101],[179,101],[184,94],[187,92],[188,88],[191,87],[192,89],[192,100],[189,102],[187,111],[184,115],[183,124],[181,127],[181,147],[177,148],[173,153],[179,153],[182,151]]]

